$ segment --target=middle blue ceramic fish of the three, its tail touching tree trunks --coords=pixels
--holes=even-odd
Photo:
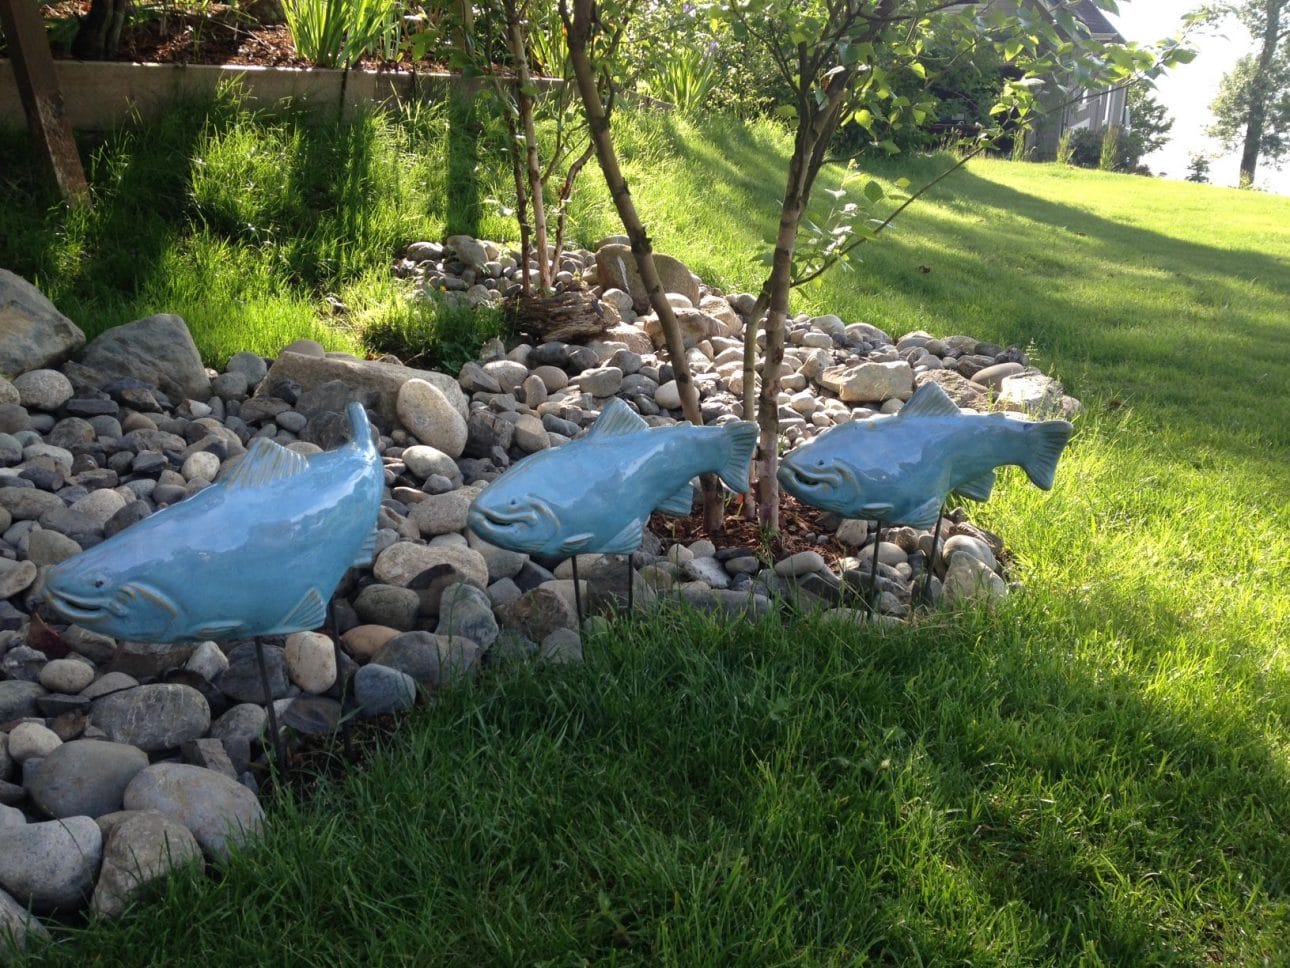
[[[613,399],[586,436],[541,450],[480,492],[471,530],[512,551],[568,558],[630,554],[655,509],[690,512],[690,479],[715,471],[738,493],[748,489],[757,425],[650,429]]]

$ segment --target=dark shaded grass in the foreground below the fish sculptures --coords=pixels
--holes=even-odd
[[[1046,612],[615,626],[441,693],[218,884],[46,963],[401,964],[428,920],[445,964],[1275,960],[1290,777],[1255,706],[1188,709]]]

